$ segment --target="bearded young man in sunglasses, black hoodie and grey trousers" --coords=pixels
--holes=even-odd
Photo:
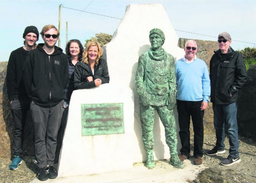
[[[54,164],[57,134],[64,105],[64,88],[68,81],[68,60],[55,46],[59,31],[47,25],[40,32],[44,44],[29,52],[23,81],[32,100],[30,113],[34,123],[34,144],[40,181],[55,179]]]

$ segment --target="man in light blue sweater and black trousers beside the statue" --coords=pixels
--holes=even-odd
[[[181,161],[190,153],[190,116],[194,130],[195,165],[202,164],[203,114],[210,96],[210,78],[206,63],[197,58],[197,43],[188,40],[184,47],[185,56],[175,63],[177,81],[177,110],[180,126]]]

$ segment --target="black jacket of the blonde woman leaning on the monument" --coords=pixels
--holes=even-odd
[[[92,76],[93,81],[87,82],[86,77]],[[74,88],[75,89],[88,89],[94,88],[94,79],[101,79],[101,84],[109,83],[108,67],[106,60],[100,58],[98,65],[94,66],[94,75],[89,64],[81,61],[76,64],[74,72]]]

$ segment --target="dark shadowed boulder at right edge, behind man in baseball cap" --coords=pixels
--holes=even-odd
[[[256,65],[247,71],[247,81],[237,100],[237,124],[239,134],[256,140]]]

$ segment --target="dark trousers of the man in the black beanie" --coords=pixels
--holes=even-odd
[[[22,155],[23,132],[29,110],[29,99],[15,98],[11,103],[11,113],[14,119],[12,155]]]

